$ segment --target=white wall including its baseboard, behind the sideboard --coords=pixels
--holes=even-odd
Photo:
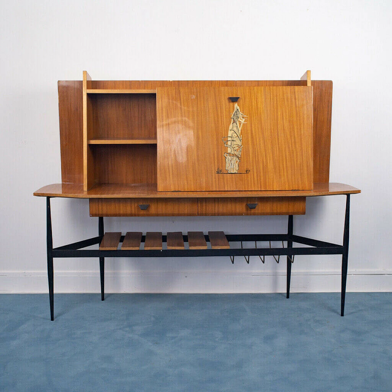
[[[330,180],[354,185],[348,290],[392,290],[392,2],[2,2],[0,292],[46,292],[43,185],[61,181],[57,80],[334,82]],[[308,198],[294,232],[341,242],[345,196]],[[53,199],[54,245],[98,232],[87,200]],[[234,224],[235,222],[235,224]],[[284,232],[287,217],[106,218],[105,229]],[[285,290],[270,257],[107,259],[107,291]],[[56,259],[55,290],[98,291],[98,260]],[[292,291],[338,291],[339,256],[298,257]]]

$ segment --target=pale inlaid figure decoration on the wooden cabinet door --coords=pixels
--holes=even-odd
[[[228,136],[222,138],[222,142],[227,148],[227,152],[223,154],[226,159],[226,170],[227,173],[238,173],[239,165],[241,162],[242,153],[242,126],[245,124],[247,116],[241,113],[240,107],[237,103],[234,104],[234,111],[231,115],[231,122],[229,127]],[[246,173],[249,173],[249,169]],[[217,174],[224,173],[219,167],[216,171]]]

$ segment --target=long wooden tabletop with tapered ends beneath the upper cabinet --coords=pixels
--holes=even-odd
[[[34,196],[102,199],[102,198],[241,198],[241,197],[287,197],[328,196],[360,193],[351,185],[330,182],[316,183],[311,191],[208,191],[208,192],[158,192],[156,184],[100,184],[89,191],[83,185],[51,184],[34,192]]]

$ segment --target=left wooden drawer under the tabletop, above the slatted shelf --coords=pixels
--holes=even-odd
[[[197,199],[90,199],[90,216],[196,216]]]

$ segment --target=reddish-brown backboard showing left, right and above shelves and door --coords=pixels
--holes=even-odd
[[[87,82],[87,81],[86,81]],[[151,89],[158,87],[299,86],[300,80],[205,81],[88,81],[92,89]],[[314,182],[329,182],[332,82],[312,80],[314,101]],[[60,148],[63,183],[83,183],[83,86],[82,81],[59,81]],[[87,89],[86,89],[87,93]],[[86,94],[87,96],[87,94]],[[90,96],[90,94],[88,95]],[[86,98],[87,99],[87,98]]]

